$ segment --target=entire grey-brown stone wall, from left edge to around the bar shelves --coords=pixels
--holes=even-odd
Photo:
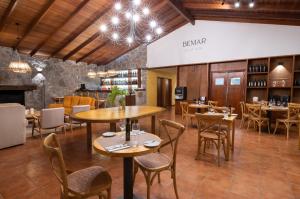
[[[90,79],[87,73],[90,69],[98,70],[124,70],[134,68],[146,68],[147,47],[140,47],[128,52],[105,66],[87,65],[84,62],[62,61],[56,58],[31,57],[20,54],[21,59],[32,67],[31,74],[17,74],[7,71],[12,60],[12,49],[0,46],[0,84],[24,85],[40,83],[35,91],[26,92],[25,101],[27,107],[40,109],[53,103],[52,97],[72,95],[81,83],[85,83],[89,89],[99,88],[99,79]],[[38,70],[43,70],[39,72]],[[39,74],[41,73],[41,74]],[[45,77],[41,82],[41,77]],[[142,70],[142,87],[146,88],[146,70]],[[44,94],[45,93],[45,94]],[[146,93],[142,93],[139,104],[146,103]]]

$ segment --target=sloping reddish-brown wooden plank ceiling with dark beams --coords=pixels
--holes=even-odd
[[[126,0],[121,0],[126,2]],[[144,0],[164,28],[164,34],[196,19],[300,25],[298,0]],[[99,34],[112,0],[1,0],[0,45],[31,56],[57,57],[106,64],[133,45],[114,45]],[[16,23],[20,24],[17,38]]]

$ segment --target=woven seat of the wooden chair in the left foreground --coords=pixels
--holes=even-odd
[[[67,177],[68,188],[76,193],[97,194],[111,185],[109,173],[100,166],[92,166],[71,173]]]

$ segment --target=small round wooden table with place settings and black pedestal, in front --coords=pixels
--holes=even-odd
[[[99,137],[94,140],[93,147],[94,150],[102,155],[110,156],[110,157],[122,157],[123,158],[123,180],[124,180],[124,199],[132,199],[133,198],[133,157],[145,155],[148,153],[154,153],[158,150],[157,147],[145,147],[144,142],[155,140],[161,143],[161,139],[151,133],[143,133],[140,135],[132,136],[135,137],[135,141],[137,141],[137,146],[131,146],[130,148],[121,149],[117,151],[108,151],[106,147],[113,146],[116,144],[124,144],[132,145],[132,141],[125,140],[126,133],[120,132],[117,133],[114,137]]]

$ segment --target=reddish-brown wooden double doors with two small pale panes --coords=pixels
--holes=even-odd
[[[241,114],[240,102],[245,101],[245,71],[211,73],[210,99],[218,106],[231,106]]]

